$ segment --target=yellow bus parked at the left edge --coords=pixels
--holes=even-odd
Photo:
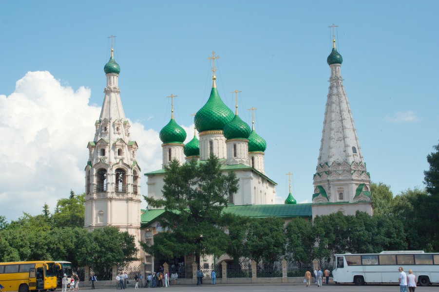
[[[57,270],[53,261],[21,261],[0,263],[1,291],[46,291],[57,288]]]

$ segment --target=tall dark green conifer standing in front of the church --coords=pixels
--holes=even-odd
[[[183,165],[174,160],[165,167],[163,198],[145,196],[145,201],[166,212],[159,222],[164,231],[154,237],[154,244],[142,247],[154,256],[165,259],[195,254],[221,255],[228,246],[222,210],[229,194],[238,190],[233,172],[224,175],[218,158],[191,161]]]

